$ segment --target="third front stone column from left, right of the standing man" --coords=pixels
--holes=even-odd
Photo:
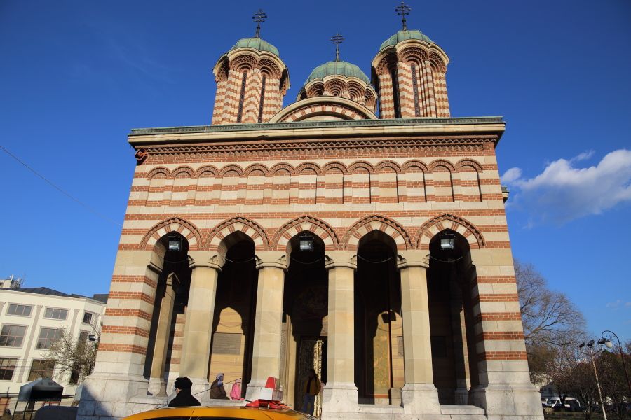
[[[337,254],[337,255],[335,255]],[[350,253],[327,253],[335,260],[329,272],[329,314],[327,337],[327,384],[323,388],[323,416],[358,412],[355,386],[355,302],[357,265]]]

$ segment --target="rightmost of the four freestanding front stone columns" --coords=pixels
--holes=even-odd
[[[403,410],[407,414],[440,414],[434,386],[427,293],[426,258],[409,251],[398,264],[401,273],[405,386]]]

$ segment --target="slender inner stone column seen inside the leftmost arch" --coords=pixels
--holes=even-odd
[[[166,364],[166,352],[169,346],[169,335],[171,332],[175,288],[178,284],[179,279],[177,275],[175,273],[169,274],[165,281],[164,295],[160,302],[154,358],[151,360],[151,376],[149,377],[149,392],[158,397],[167,396],[164,368]]]

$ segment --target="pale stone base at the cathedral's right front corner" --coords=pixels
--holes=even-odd
[[[534,385],[487,385],[475,388],[473,402],[489,420],[543,420],[541,395]]]

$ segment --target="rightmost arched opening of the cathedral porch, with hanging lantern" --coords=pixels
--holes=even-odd
[[[434,385],[442,405],[467,405],[477,386],[468,241],[442,230],[430,241],[428,301]]]

